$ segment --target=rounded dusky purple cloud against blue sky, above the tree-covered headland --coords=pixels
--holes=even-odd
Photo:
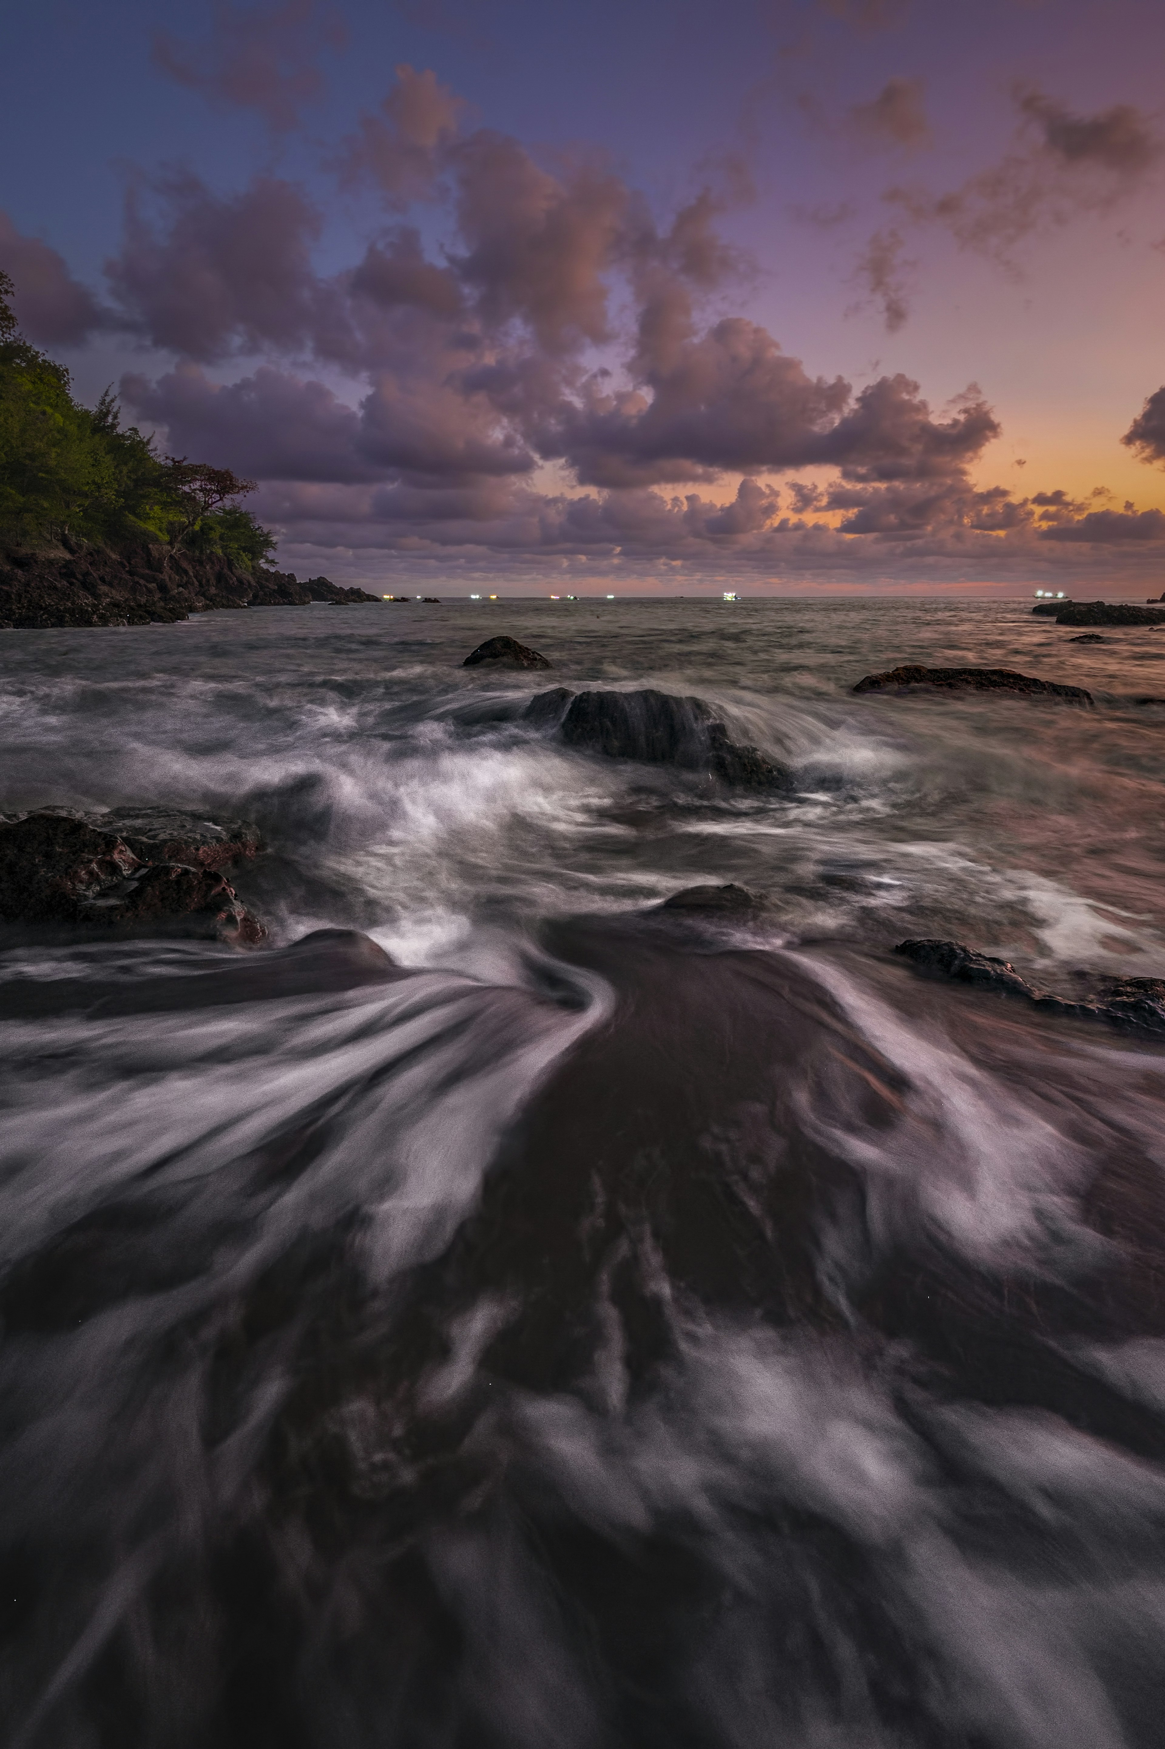
[[[212,360],[266,345],[303,346],[318,322],[311,245],[320,215],[290,182],[257,177],[231,199],[173,173],[129,189],[121,254],[105,271],[152,345]]]

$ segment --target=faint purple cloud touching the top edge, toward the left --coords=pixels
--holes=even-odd
[[[269,128],[285,133],[324,89],[320,54],[345,42],[343,19],[317,0],[276,0],[268,7],[217,0],[205,42],[185,44],[159,30],[150,61],[212,103],[254,108]]]

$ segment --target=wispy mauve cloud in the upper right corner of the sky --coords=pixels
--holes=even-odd
[[[917,224],[945,226],[962,248],[1011,264],[1032,233],[1107,212],[1160,159],[1144,115],[1118,103],[1099,115],[1072,115],[1034,87],[1018,87],[1016,147],[997,164],[946,194],[892,187],[885,199]]]

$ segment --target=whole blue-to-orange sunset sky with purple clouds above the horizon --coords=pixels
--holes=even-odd
[[[1165,589],[1160,0],[9,0],[26,336],[395,593]]]

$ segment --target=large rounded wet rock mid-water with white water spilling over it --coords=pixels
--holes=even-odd
[[[792,775],[756,747],[731,742],[701,698],[652,689],[577,693],[562,719],[562,738],[609,759],[679,764],[745,789],[792,789]]]

